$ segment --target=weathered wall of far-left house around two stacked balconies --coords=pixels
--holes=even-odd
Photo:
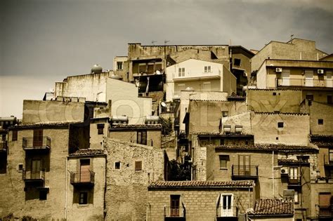
[[[11,138],[12,131],[9,132]],[[44,128],[44,136],[51,138],[51,150],[44,157],[46,165],[45,187],[49,188],[46,200],[39,200],[39,192],[30,187],[24,191],[25,182],[22,172],[18,171],[18,164],[26,168],[25,156],[27,152],[22,149],[22,138],[32,137],[33,130],[19,129],[18,140],[9,141],[7,173],[0,174],[0,217],[13,213],[13,217],[30,216],[35,219],[65,219],[66,201],[66,156],[68,149],[68,128]],[[40,153],[40,150],[36,150]],[[37,155],[35,153],[34,155]],[[27,159],[28,163],[28,159]],[[29,169],[29,168],[26,168]],[[35,193],[34,197],[31,197]],[[28,196],[28,194],[30,196]],[[27,199],[27,198],[30,199]],[[33,199],[34,198],[34,199]]]

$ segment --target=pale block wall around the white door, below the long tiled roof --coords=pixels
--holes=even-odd
[[[181,196],[181,203],[185,206],[186,220],[216,220],[216,206],[221,194],[233,194],[233,205],[239,206],[239,214],[245,213],[247,208],[254,206],[252,189],[221,187],[149,189],[148,220],[164,220],[164,206],[170,206],[170,195]]]

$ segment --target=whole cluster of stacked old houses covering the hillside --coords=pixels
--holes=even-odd
[[[127,47],[0,117],[0,220],[333,220],[333,54]]]

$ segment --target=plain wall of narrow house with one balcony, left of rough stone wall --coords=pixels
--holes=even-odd
[[[67,173],[67,219],[68,220],[104,220],[105,192],[105,156],[81,156],[68,158],[68,170],[80,170],[80,160],[90,159],[90,170],[95,173],[93,187],[74,187],[70,184],[70,173]],[[87,204],[79,204],[79,192],[88,192]]]

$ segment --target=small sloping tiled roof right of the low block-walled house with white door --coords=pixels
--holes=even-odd
[[[257,199],[252,215],[292,215],[294,201],[290,199]]]

